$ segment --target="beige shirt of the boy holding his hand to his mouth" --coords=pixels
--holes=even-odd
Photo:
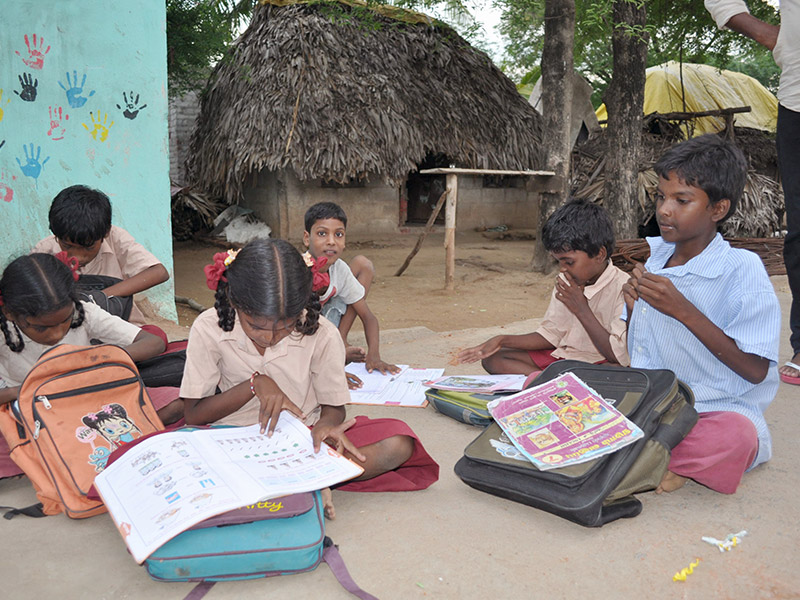
[[[630,364],[626,346],[625,322],[619,315],[625,306],[622,297],[622,286],[629,276],[611,263],[600,274],[597,281],[583,289],[583,295],[589,302],[589,308],[609,332],[609,341],[617,362],[623,366]],[[556,290],[550,298],[550,306],[544,314],[536,333],[555,346],[551,355],[555,358],[567,358],[596,363],[606,360],[595,347],[589,334],[578,318],[570,312],[563,302],[556,299]]]

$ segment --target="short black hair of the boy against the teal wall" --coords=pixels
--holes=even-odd
[[[91,246],[111,231],[111,202],[85,185],[61,190],[50,205],[50,231],[58,239]]]

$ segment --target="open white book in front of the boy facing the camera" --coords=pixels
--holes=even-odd
[[[380,371],[369,373],[364,363],[350,363],[348,373],[357,375],[363,387],[350,390],[350,404],[378,404],[386,406],[423,407],[428,404],[423,382],[441,377],[444,369],[415,369],[398,365],[400,373],[384,375]]]

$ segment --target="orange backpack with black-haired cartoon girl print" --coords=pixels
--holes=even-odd
[[[43,512],[73,519],[105,512],[86,494],[111,452],[162,429],[133,360],[106,344],[48,350],[0,407],[0,432]]]

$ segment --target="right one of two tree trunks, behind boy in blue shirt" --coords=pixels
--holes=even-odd
[[[637,237],[639,154],[647,67],[644,0],[615,0],[614,73],[604,99],[608,111],[603,202],[617,239]]]

